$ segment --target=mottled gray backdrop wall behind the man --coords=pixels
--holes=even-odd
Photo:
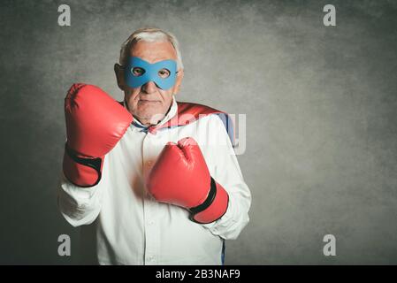
[[[65,92],[84,81],[121,99],[120,44],[151,25],[179,38],[180,100],[247,114],[251,221],[226,264],[397,264],[396,21],[394,1],[1,1],[0,264],[80,262],[56,205]]]

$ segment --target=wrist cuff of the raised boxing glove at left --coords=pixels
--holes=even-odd
[[[103,158],[79,157],[65,143],[65,177],[78,187],[94,187],[102,178]]]

